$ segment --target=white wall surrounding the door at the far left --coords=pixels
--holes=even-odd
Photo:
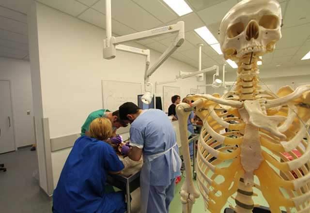
[[[0,80],[11,81],[16,147],[35,143],[30,62],[0,58]],[[27,115],[28,110],[30,115]]]

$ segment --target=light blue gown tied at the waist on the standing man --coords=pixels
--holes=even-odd
[[[131,123],[130,144],[143,149],[143,155],[152,155],[169,150],[176,143],[175,131],[168,116],[159,109],[144,110]],[[178,146],[175,146],[179,152]],[[166,186],[181,175],[179,163],[173,171],[171,152],[157,157],[151,162],[150,185]]]

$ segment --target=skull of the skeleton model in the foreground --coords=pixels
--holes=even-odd
[[[242,0],[223,18],[219,43],[224,58],[237,61],[247,53],[272,52],[281,38],[281,7],[277,0]]]

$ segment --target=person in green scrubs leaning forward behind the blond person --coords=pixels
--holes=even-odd
[[[118,128],[126,127],[128,125],[128,122],[120,120],[118,110],[111,112],[109,109],[99,109],[93,111],[91,114],[88,115],[86,121],[81,128],[81,136],[90,136],[89,126],[91,125],[91,122],[93,122],[93,120],[95,120],[96,118],[101,117],[108,118],[111,121],[113,128],[113,137],[116,136],[116,130]]]

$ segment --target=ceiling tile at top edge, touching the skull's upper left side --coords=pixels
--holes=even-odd
[[[206,25],[222,20],[224,15],[236,4],[237,0],[226,0],[212,7],[205,8],[198,12]]]

